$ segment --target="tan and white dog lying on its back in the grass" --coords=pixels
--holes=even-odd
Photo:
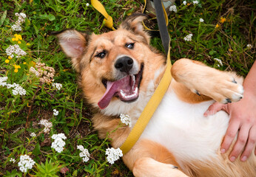
[[[118,30],[101,35],[75,30],[57,35],[87,102],[98,110],[92,122],[101,138],[118,127],[120,114],[129,114],[135,125],[164,74],[166,57],[149,46],[144,18],[131,15]],[[164,99],[123,157],[127,167],[135,176],[255,176],[254,153],[246,162],[230,162],[229,152],[220,154],[228,114],[203,117],[215,101],[240,100],[243,78],[186,58],[177,60],[171,72]],[[112,132],[112,147],[120,147],[130,131],[124,126]]]

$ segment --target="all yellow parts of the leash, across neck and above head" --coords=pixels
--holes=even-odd
[[[112,17],[107,14],[101,2],[99,2],[98,0],[91,0],[91,3],[96,10],[98,10],[102,15],[104,15],[105,25],[110,29],[115,30],[115,28],[113,27]],[[145,0],[145,7],[146,7],[146,0]],[[165,10],[164,10],[164,18],[165,18],[166,24],[168,24],[168,18]],[[149,30],[148,28],[146,29]],[[172,80],[172,75],[171,75],[172,64],[170,60],[169,51],[170,51],[170,48],[168,49],[166,70],[164,72],[164,76],[162,77],[158,85],[158,88],[155,89],[155,93],[150,98],[149,103],[146,104],[146,107],[144,108],[144,111],[142,111],[141,116],[138,118],[135,126],[132,128],[132,131],[129,133],[129,136],[127,136],[127,139],[125,140],[124,144],[121,145],[120,149],[122,150],[123,154],[127,153],[133,147],[133,145],[135,145],[135,143],[138,141],[144,129],[146,128],[146,125],[148,124],[149,120],[154,114],[155,110],[158,108],[158,105],[161,103],[161,100],[163,99],[164,94],[169,88],[169,84],[171,83],[171,80]]]

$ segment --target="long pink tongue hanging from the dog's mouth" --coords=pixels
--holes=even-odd
[[[107,108],[110,104],[110,100],[116,92],[122,90],[130,90],[130,76],[122,78],[121,80],[116,80],[115,82],[107,81],[107,90],[105,91],[101,100],[98,101],[98,107],[101,109]]]

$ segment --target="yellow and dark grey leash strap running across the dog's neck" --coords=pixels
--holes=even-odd
[[[151,119],[152,115],[155,113],[156,108],[161,103],[161,100],[164,97],[167,89],[169,88],[169,84],[172,80],[171,75],[171,60],[169,54],[169,35],[166,28],[166,23],[164,21],[164,11],[162,9],[161,0],[154,0],[155,3],[155,10],[157,13],[158,19],[158,27],[160,28],[161,39],[164,45],[164,49],[167,54],[167,61],[166,61],[166,70],[164,72],[164,76],[162,77],[158,88],[155,90],[155,93],[149,100],[149,103],[146,104],[144,111],[142,111],[141,116],[138,118],[135,126],[132,128],[132,131],[127,136],[124,144],[121,145],[120,149],[122,150],[123,154],[129,152],[129,150],[135,145],[135,143],[140,138],[141,134],[143,133],[146,125],[148,124],[149,120]]]

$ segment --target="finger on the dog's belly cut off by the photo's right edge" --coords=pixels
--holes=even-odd
[[[240,160],[245,162],[250,154],[253,151],[253,148],[255,148],[256,145],[256,126],[253,126],[250,131],[249,131],[249,138],[246,144],[246,148],[243,150],[243,153],[240,157]],[[255,154],[256,154],[256,149],[255,149]]]

